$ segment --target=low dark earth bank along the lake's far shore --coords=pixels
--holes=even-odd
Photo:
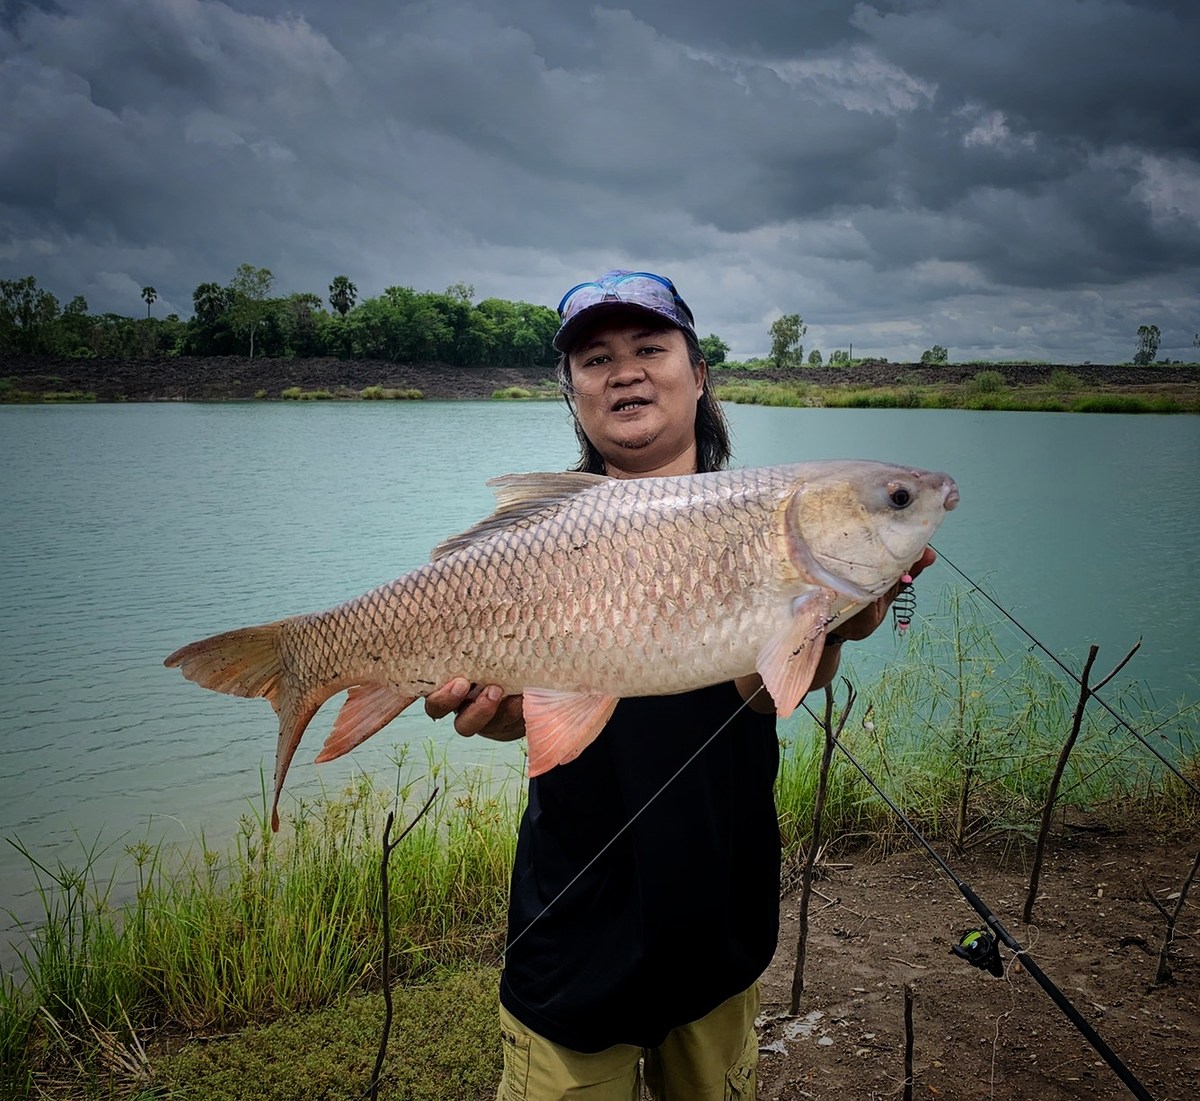
[[[1132,367],[1093,363],[923,363],[863,362],[853,367],[792,371],[710,371],[714,385],[803,383],[854,389],[905,385],[961,385],[982,371],[1003,375],[1007,386],[1044,386],[1055,372],[1069,372],[1081,389],[1126,393],[1200,396],[1200,367]],[[158,359],[0,359],[0,401],[179,402],[276,399],[284,391],[324,391],[355,398],[368,387],[408,392],[433,401],[490,399],[497,391],[522,387],[547,393],[554,387],[548,367],[450,367],[444,363],[390,363],[384,360],[246,359],[164,356]],[[419,393],[418,393],[419,392]]]

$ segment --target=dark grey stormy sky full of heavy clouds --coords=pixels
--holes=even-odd
[[[0,0],[0,277],[671,276],[766,353],[1200,349],[1195,0]]]

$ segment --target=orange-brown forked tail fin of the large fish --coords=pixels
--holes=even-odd
[[[184,676],[203,688],[270,700],[280,717],[280,736],[275,746],[272,830],[280,828],[283,778],[305,728],[318,708],[340,688],[338,685],[306,685],[290,663],[284,663],[284,622],[287,620],[276,620],[202,638],[180,648],[163,662],[168,668],[179,668]]]

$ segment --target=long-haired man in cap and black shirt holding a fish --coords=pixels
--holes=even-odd
[[[670,279],[612,271],[572,287],[558,312],[577,469],[652,477],[728,462],[692,314]],[[812,688],[894,595],[829,636]],[[494,685],[457,678],[425,706],[455,711],[463,735],[523,734],[521,697]],[[755,1096],[757,979],[779,922],[778,766],[774,703],[750,674],[624,699],[577,759],[529,781],[500,981],[500,1101],[630,1101],[640,1073],[660,1101]]]

